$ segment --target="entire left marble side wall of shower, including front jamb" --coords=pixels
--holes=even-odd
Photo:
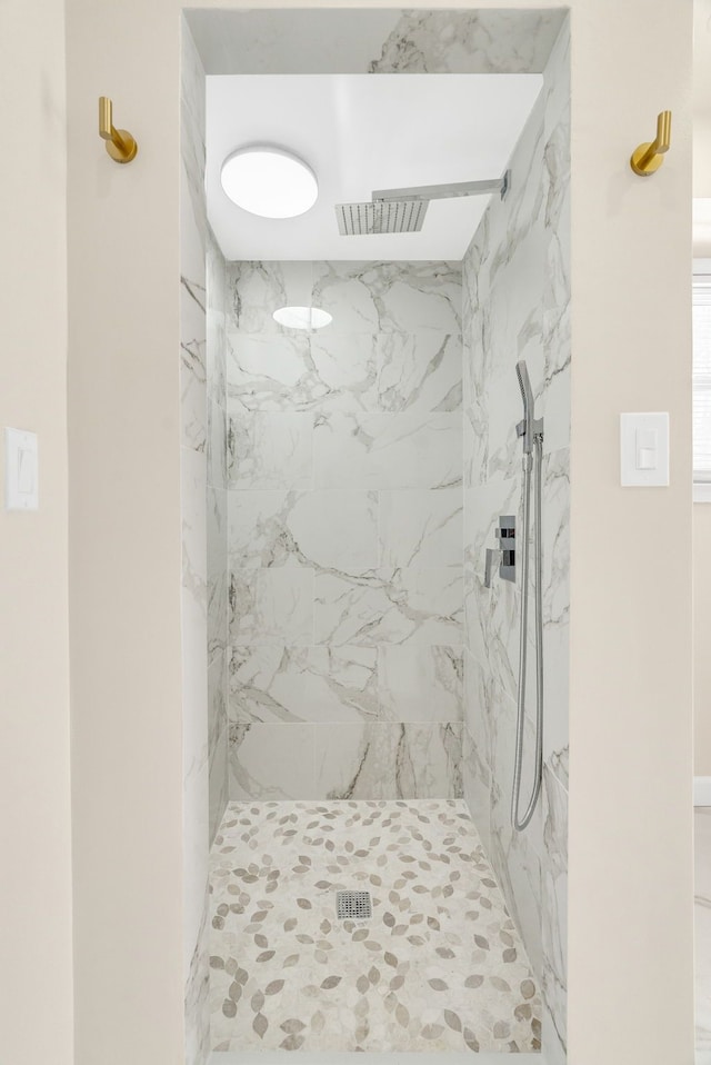
[[[186,1063],[210,1047],[208,858],[227,806],[224,259],[207,222],[204,71],[182,34],[180,390]]]

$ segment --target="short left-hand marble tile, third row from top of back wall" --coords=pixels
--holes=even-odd
[[[240,411],[230,402],[228,487],[311,488],[313,416]]]

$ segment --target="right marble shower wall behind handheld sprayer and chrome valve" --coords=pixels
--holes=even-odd
[[[544,996],[543,1045],[565,1059],[568,805],[570,256],[569,31],[511,162],[512,189],[492,199],[464,258],[464,795]],[[545,728],[542,802],[511,828],[520,586],[483,584],[499,515],[521,520],[521,400],[525,359],[543,416]],[[529,766],[534,745],[534,654],[529,639]]]

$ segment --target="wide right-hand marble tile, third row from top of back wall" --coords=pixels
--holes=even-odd
[[[462,478],[461,415],[321,415],[313,460],[318,488],[454,487]]]

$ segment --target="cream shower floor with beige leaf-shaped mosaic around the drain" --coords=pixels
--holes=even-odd
[[[461,800],[231,803],[211,857],[216,1051],[540,1048],[540,998]],[[337,917],[337,892],[372,917]]]

